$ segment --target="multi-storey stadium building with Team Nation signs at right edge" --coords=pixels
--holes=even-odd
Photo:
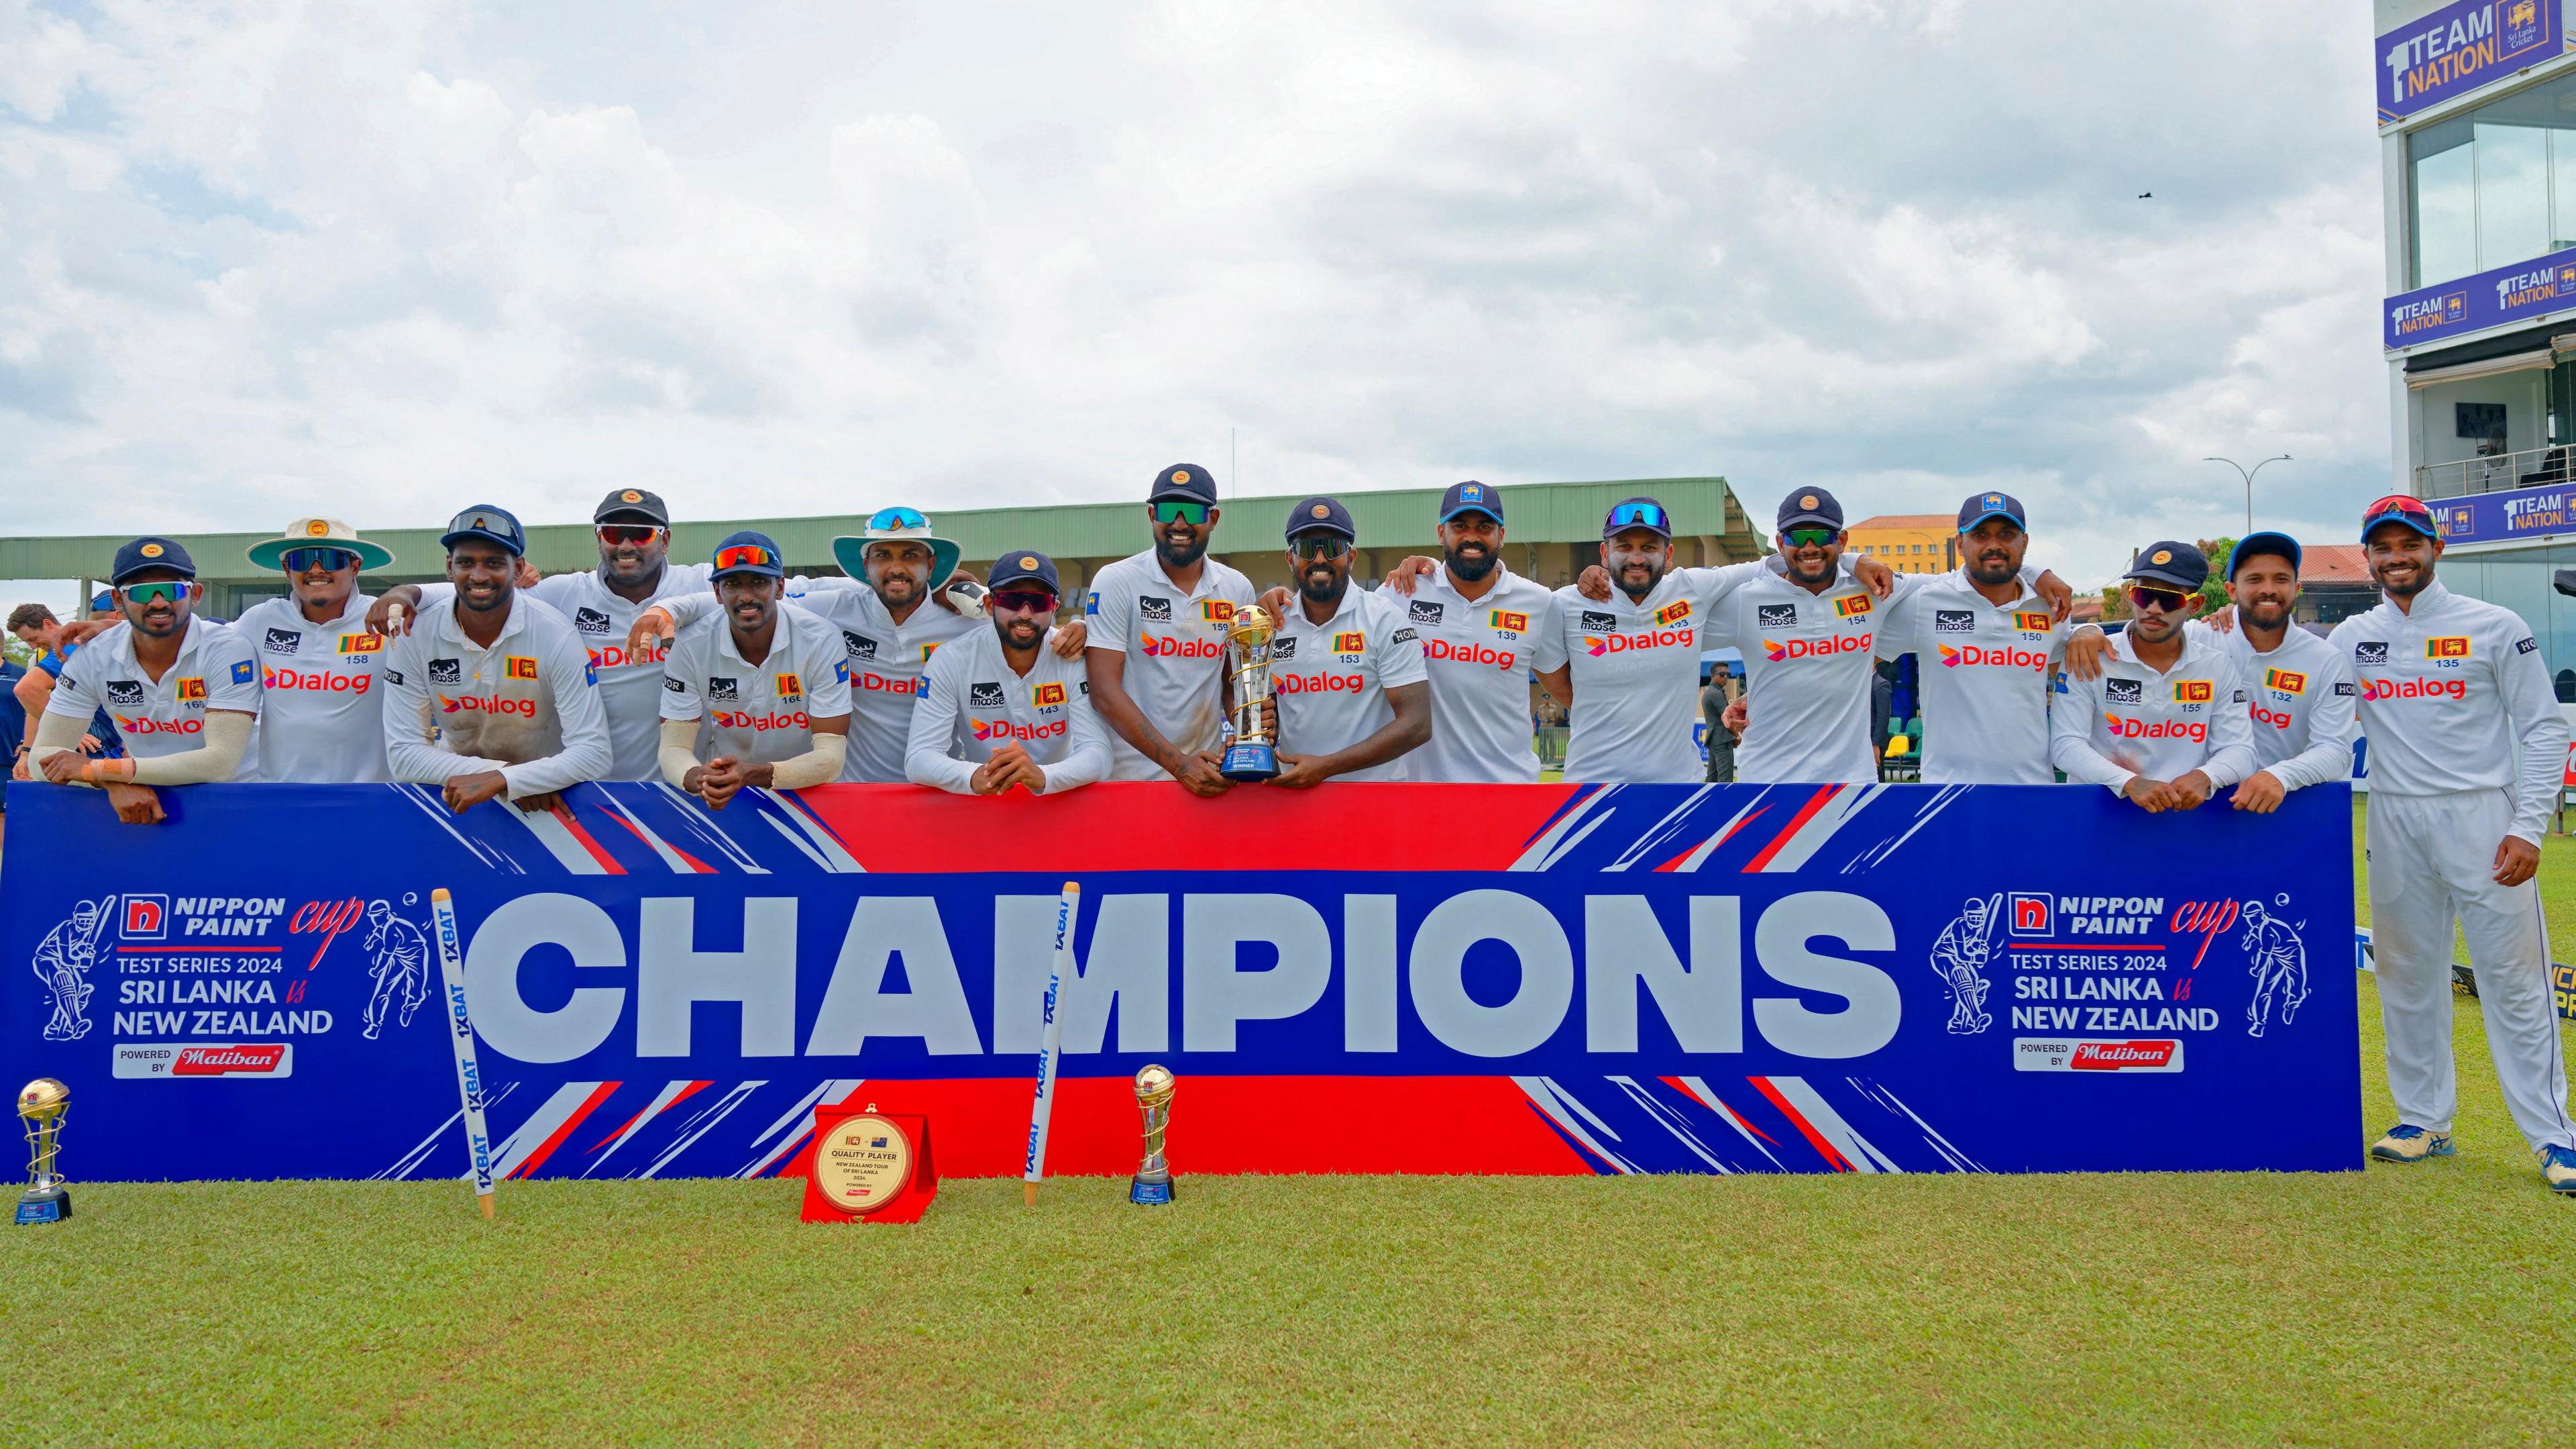
[[[2393,485],[2442,580],[2522,614],[2576,704],[2576,34],[2568,0],[2375,0]]]

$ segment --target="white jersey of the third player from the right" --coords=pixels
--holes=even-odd
[[[2102,650],[2099,678],[2066,678],[2048,712],[2048,755],[2069,784],[2102,784],[2112,794],[2136,776],[2169,781],[2192,771],[2218,792],[2254,773],[2246,709],[2244,676],[2218,645],[2184,632],[2182,657],[2156,673],[2120,632]]]

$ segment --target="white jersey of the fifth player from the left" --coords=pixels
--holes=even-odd
[[[793,761],[814,750],[814,719],[850,714],[850,657],[840,629],[793,603],[778,606],[770,652],[742,663],[734,621],[714,614],[672,639],[662,660],[662,719],[703,719],[698,763]]]

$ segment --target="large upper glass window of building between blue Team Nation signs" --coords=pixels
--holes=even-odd
[[[2406,137],[2414,286],[2576,248],[2576,77]]]

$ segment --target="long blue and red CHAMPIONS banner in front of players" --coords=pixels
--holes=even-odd
[[[791,1173],[840,1101],[1015,1173],[1066,879],[1069,1173],[1133,1171],[1146,1062],[1182,1173],[2360,1165],[2342,786],[165,797],[8,797],[75,1178],[464,1173],[438,890],[505,1178]]]

